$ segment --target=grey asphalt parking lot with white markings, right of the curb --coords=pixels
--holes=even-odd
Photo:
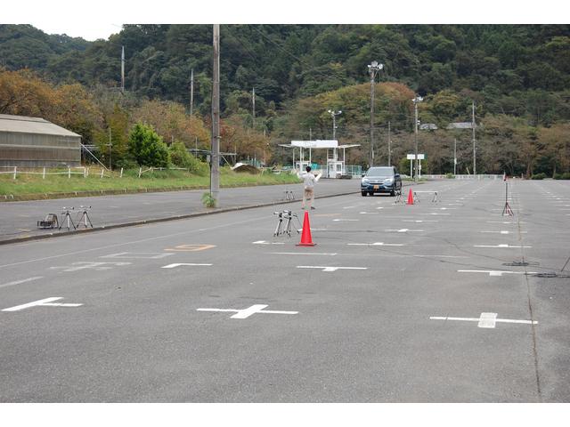
[[[0,246],[0,401],[567,402],[570,185],[414,189]]]

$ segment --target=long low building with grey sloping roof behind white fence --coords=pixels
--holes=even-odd
[[[0,166],[81,165],[81,135],[39,117],[0,114]]]

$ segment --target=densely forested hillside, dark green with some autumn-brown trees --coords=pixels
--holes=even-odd
[[[4,67],[0,113],[17,110],[2,110],[10,86],[5,81],[16,76],[9,72],[28,67],[54,91],[74,83],[83,86],[84,98],[96,112],[90,129],[85,130],[85,120],[76,120],[82,123],[83,129],[78,130],[88,141],[102,138],[98,135],[117,122],[115,115],[123,117],[118,120],[124,122],[120,132],[144,119],[156,128],[168,129],[162,133],[167,142],[193,146],[198,137],[207,147],[211,44],[210,25],[125,25],[109,40],[93,43],[48,36],[30,26],[0,25],[0,66]],[[121,46],[126,51],[125,95],[117,90]],[[452,122],[470,121],[472,102],[479,126],[478,172],[568,172],[567,25],[223,25],[225,149],[257,157],[265,151],[268,161],[273,156],[273,162],[284,162],[290,152],[277,149],[277,143],[308,139],[309,134],[330,138],[331,120],[326,111],[342,109],[338,138],[361,143],[362,150],[354,151],[349,161],[365,165],[370,144],[367,65],[372,60],[385,65],[379,74],[381,84],[376,85],[379,162],[387,161],[388,121],[396,162],[410,149],[411,98],[419,93],[425,97],[419,106],[420,121],[439,127],[420,134],[429,172],[450,171],[455,138],[460,140],[460,172],[466,172],[471,161],[470,135],[442,129]],[[176,111],[178,122],[184,122],[190,107],[192,69],[199,136],[191,129],[159,123],[164,115],[148,117],[149,105],[154,105],[170,114]]]

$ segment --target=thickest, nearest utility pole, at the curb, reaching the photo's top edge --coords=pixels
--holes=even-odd
[[[212,148],[210,155],[210,195],[214,207],[220,192],[220,24],[214,24],[214,60],[212,73]]]

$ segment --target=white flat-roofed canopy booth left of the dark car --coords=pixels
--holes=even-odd
[[[281,147],[293,149],[293,167],[296,169],[304,169],[305,166],[312,163],[313,149],[327,150],[327,168],[323,171],[326,178],[338,178],[340,175],[346,174],[346,149],[359,147],[360,144],[338,145],[337,140],[316,140],[316,141],[291,141],[290,144],[279,144]],[[299,149],[299,160],[295,161],[295,149]],[[309,149],[309,159],[305,160],[304,149]],[[342,149],[342,160],[338,159],[338,149]]]

